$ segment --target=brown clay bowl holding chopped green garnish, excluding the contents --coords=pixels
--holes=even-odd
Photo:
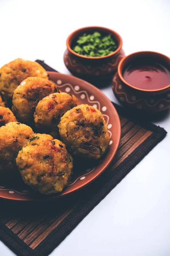
[[[112,34],[113,38],[115,38],[118,43],[116,51],[102,57],[87,57],[80,55],[71,49],[72,43],[79,35],[94,31]],[[117,71],[119,61],[125,56],[120,35],[115,31],[104,27],[91,26],[77,29],[68,36],[66,45],[67,49],[64,53],[64,63],[68,70],[74,76],[90,81],[96,86],[100,85],[103,81],[109,81],[113,78],[114,73]]]

